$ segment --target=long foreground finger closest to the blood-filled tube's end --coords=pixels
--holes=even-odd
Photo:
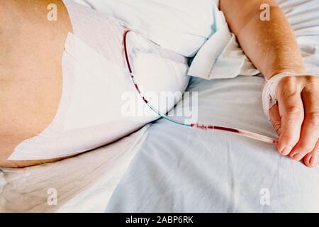
[[[288,155],[298,143],[303,123],[301,86],[300,83],[296,83],[296,80],[296,77],[285,77],[281,79],[276,90],[281,115],[278,150],[282,155]]]

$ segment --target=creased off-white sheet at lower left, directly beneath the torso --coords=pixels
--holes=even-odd
[[[0,213],[103,212],[148,127],[60,162],[23,169],[0,167]],[[56,206],[47,204],[48,189],[56,189]]]

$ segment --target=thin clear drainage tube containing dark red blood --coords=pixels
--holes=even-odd
[[[130,79],[133,82],[133,85],[136,89],[136,91],[138,92],[139,96],[142,98],[142,100],[145,102],[145,104],[147,104],[147,106],[150,107],[150,109],[152,109],[152,111],[154,111],[156,114],[158,114],[160,117],[165,118],[167,121],[171,121],[172,123],[177,123],[181,126],[186,126],[186,127],[190,127],[190,128],[198,128],[198,129],[203,129],[203,130],[220,130],[220,131],[228,131],[230,133],[236,133],[238,135],[242,135],[245,136],[247,138],[252,138],[254,140],[259,140],[265,143],[271,143],[271,144],[277,144],[278,140],[276,140],[275,138],[271,138],[265,135],[259,135],[257,133],[252,133],[250,131],[245,131],[245,130],[241,130],[241,129],[237,129],[237,128],[228,128],[228,127],[223,127],[223,126],[206,126],[203,124],[199,124],[199,123],[181,123],[179,121],[175,121],[172,118],[168,118],[167,116],[165,116],[164,114],[159,113],[159,111],[157,111],[157,109],[155,109],[154,106],[152,106],[152,104],[150,104],[146,99],[145,96],[142,95],[142,93],[140,92],[140,89],[138,87],[138,84],[135,81],[135,74],[133,74],[133,70],[132,67],[130,65],[130,60],[128,58],[128,48],[127,48],[127,35],[128,33],[130,33],[130,30],[125,31],[124,35],[123,35],[123,48],[124,48],[124,53],[125,53],[125,60],[126,60],[126,65],[128,67],[128,71],[130,72]]]

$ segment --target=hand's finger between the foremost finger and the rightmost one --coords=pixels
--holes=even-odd
[[[310,153],[319,138],[319,82],[315,78],[309,79],[306,87],[301,92],[305,119],[301,128],[301,138],[293,148],[290,156],[295,160],[301,160]]]

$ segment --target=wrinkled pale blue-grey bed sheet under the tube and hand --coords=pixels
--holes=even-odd
[[[276,137],[262,113],[263,82],[193,78],[188,90],[198,92],[198,121]],[[319,167],[283,157],[274,145],[161,119],[150,126],[106,211],[318,212],[318,191]]]

